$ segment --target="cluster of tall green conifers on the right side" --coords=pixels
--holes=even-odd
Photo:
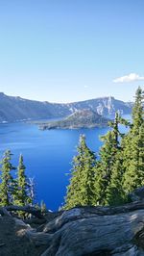
[[[81,137],[78,156],[73,161],[65,209],[77,205],[120,205],[128,201],[129,192],[144,185],[143,117],[143,91],[138,88],[132,123],[116,113],[114,120],[109,122],[110,131],[101,138],[104,144],[97,163],[91,162],[94,153],[89,154],[91,151],[87,151],[85,139]],[[130,127],[127,134],[120,133],[120,124]],[[87,190],[88,182],[90,190]]]

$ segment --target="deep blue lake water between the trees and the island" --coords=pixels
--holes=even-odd
[[[108,128],[40,131],[36,125],[27,123],[0,124],[0,157],[10,149],[12,163],[17,166],[22,153],[27,174],[35,177],[36,200],[43,199],[48,209],[56,211],[64,202],[69,179],[66,173],[77,153],[80,134],[97,152],[102,145],[99,137],[107,131]]]

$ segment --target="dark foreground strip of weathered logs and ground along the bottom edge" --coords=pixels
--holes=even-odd
[[[144,255],[142,201],[115,208],[74,208],[43,217],[27,208],[23,210],[35,218],[25,222],[8,213],[15,209],[0,209],[0,255]]]

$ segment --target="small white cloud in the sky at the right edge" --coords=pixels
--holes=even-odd
[[[144,81],[144,76],[139,76],[136,73],[131,73],[129,75],[118,77],[113,80],[114,83],[130,83],[135,81]]]

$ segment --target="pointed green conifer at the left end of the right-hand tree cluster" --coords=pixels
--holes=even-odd
[[[95,154],[87,147],[85,137],[80,137],[78,155],[73,159],[70,184],[67,187],[64,209],[95,205]]]

